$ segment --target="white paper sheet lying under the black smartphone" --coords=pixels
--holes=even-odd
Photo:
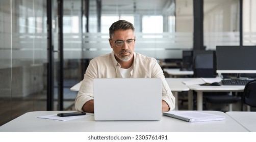
[[[36,118],[52,119],[52,120],[59,120],[59,121],[68,121],[68,120],[73,120],[73,119],[85,118],[85,117],[93,116],[93,115],[94,114],[86,113],[86,115],[82,115],[82,116],[59,117],[59,116],[57,116],[57,114],[54,114],[54,115],[38,116]]]

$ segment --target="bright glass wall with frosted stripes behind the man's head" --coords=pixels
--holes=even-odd
[[[135,25],[136,52],[157,59],[181,59],[182,50],[192,49],[193,26],[186,26],[190,27],[188,29],[182,27],[175,29],[175,20],[184,17],[184,13],[181,13],[175,18],[175,1],[161,0],[156,3],[153,0],[146,2],[102,0],[101,2],[101,31],[97,32],[97,25],[92,26],[92,24],[97,24],[96,20],[89,20],[89,32],[83,33],[82,58],[91,59],[111,52],[108,43],[109,27],[119,19],[130,21]],[[183,6],[183,3],[178,2],[177,6]],[[189,4],[188,7],[191,10],[193,8]],[[95,1],[90,1],[89,13],[89,18],[97,17]],[[193,14],[189,17],[191,18],[190,23],[192,17]]]

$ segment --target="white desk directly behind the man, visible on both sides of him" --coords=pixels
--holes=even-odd
[[[189,87],[182,83],[183,81],[190,80],[190,78],[165,78],[166,82],[168,83],[174,97],[175,97],[175,110],[178,110],[178,92],[182,91],[189,91]],[[73,87],[70,88],[71,91],[79,91],[79,88],[82,84],[82,81],[78,84],[75,84]],[[191,94],[189,96],[192,96]],[[192,102],[192,106],[189,105],[189,110],[193,110],[193,96],[189,98],[189,104]]]

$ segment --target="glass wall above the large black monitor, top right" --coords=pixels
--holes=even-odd
[[[256,45],[256,2],[243,0],[243,45]],[[204,45],[240,45],[240,1],[204,0]]]

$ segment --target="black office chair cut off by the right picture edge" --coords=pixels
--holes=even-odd
[[[256,107],[256,80],[248,82],[244,87],[241,111],[243,111],[244,104],[247,104],[250,107]]]

